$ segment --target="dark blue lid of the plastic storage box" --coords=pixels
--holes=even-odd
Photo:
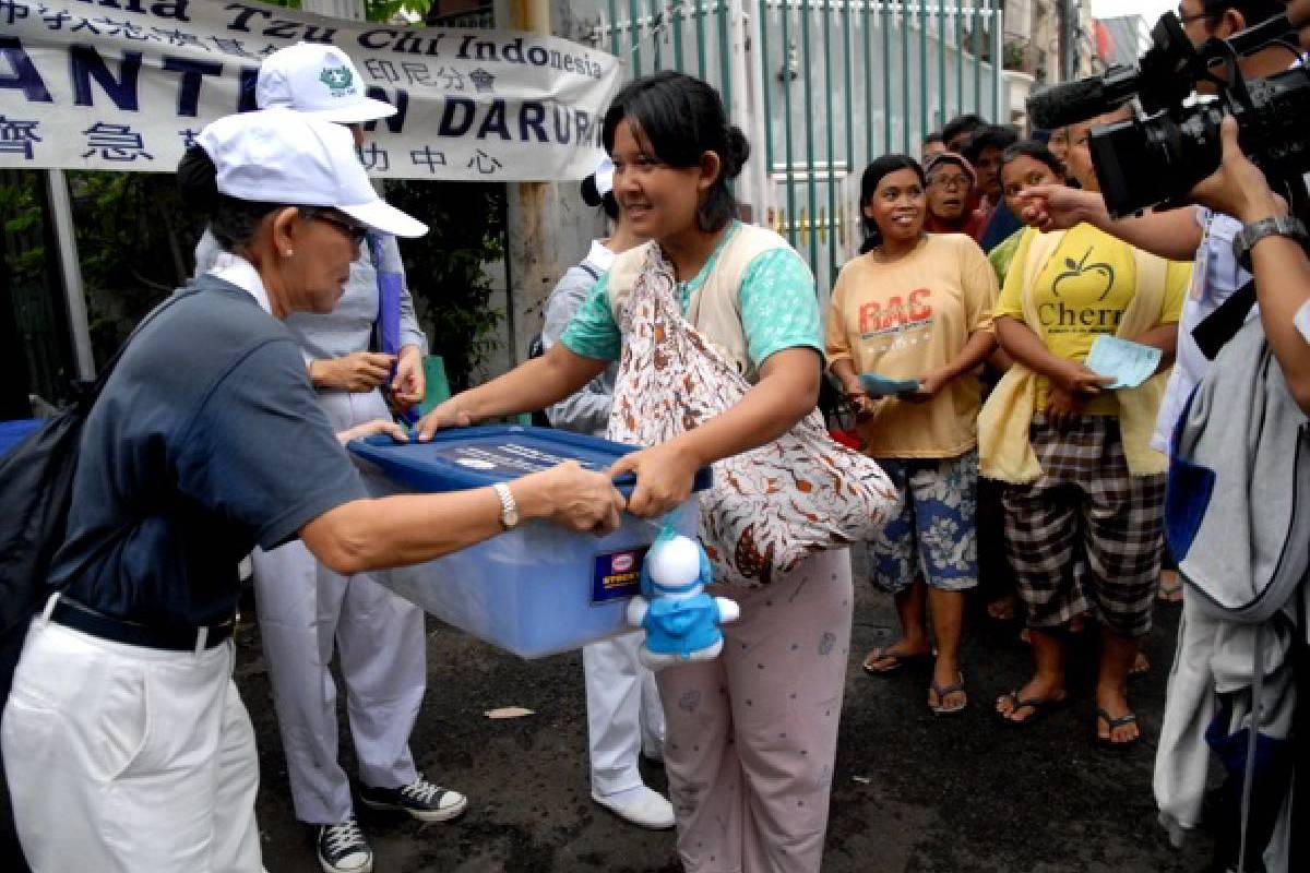
[[[637,449],[582,433],[517,424],[438,431],[431,442],[396,442],[377,435],[350,444],[351,452],[393,480],[427,492],[486,488],[565,461],[601,472]],[[711,482],[710,469],[702,467],[692,490],[703,491]],[[614,479],[625,496],[635,484],[637,476],[630,472]]]

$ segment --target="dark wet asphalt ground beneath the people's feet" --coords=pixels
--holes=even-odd
[[[1157,607],[1148,643],[1153,668],[1133,681],[1146,742],[1106,753],[1091,742],[1090,643],[1077,644],[1072,660],[1074,703],[1041,724],[1007,729],[993,717],[992,700],[1024,681],[1027,648],[1018,628],[979,615],[964,652],[971,707],[958,719],[934,719],[925,704],[926,666],[878,678],[859,669],[870,647],[895,640],[896,618],[889,598],[867,584],[857,592],[825,872],[1154,873],[1207,865],[1204,836],[1180,851],[1169,847],[1150,792],[1178,607]],[[271,873],[316,872],[310,828],[291,810],[257,630],[240,640],[238,683],[259,742],[265,864]],[[536,715],[483,715],[507,705]],[[411,749],[431,779],[469,796],[469,811],[422,826],[362,810],[379,873],[681,869],[672,832],[642,831],[591,802],[578,653],[521,661],[430,619],[428,692]],[[348,739],[343,758],[351,760]],[[663,788],[659,768],[647,776]]]

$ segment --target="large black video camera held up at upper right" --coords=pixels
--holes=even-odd
[[[1251,81],[1238,69],[1239,58],[1275,45],[1288,48],[1289,65],[1300,58],[1286,16],[1193,46],[1169,12],[1155,22],[1151,46],[1136,67],[1116,65],[1103,76],[1047,88],[1028,98],[1028,115],[1039,127],[1062,127],[1136,98],[1132,119],[1091,132],[1091,160],[1115,217],[1186,203],[1187,192],[1218,169],[1220,123],[1233,115],[1242,151],[1300,211],[1306,202],[1301,177],[1310,170],[1310,69],[1297,64]],[[1224,67],[1225,76],[1212,67]],[[1214,82],[1218,97],[1188,106],[1199,81]]]

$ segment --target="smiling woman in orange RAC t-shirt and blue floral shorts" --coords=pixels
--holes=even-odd
[[[933,182],[967,195],[971,171],[958,156],[934,158]],[[943,182],[948,182],[943,183]],[[848,263],[832,292],[828,356],[833,374],[859,408],[865,450],[900,492],[892,522],[870,547],[874,584],[896,598],[897,643],[865,658],[869,673],[937,660],[927,705],[937,715],[964,709],[959,665],[964,592],[977,585],[976,419],[979,365],[996,347],[996,275],[969,237],[924,233],[925,177],[907,154],[886,154],[865,170],[863,254]],[[866,394],[863,376],[908,380],[913,390]]]

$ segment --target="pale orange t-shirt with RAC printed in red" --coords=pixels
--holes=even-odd
[[[828,360],[858,373],[918,378],[946,366],[969,336],[992,330],[996,272],[969,237],[927,234],[896,263],[872,253],[841,270],[828,313]],[[888,398],[861,424],[875,458],[952,458],[977,445],[976,373],[926,403]]]

